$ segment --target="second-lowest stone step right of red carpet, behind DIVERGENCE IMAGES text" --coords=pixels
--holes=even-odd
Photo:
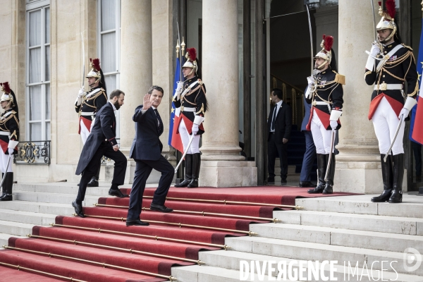
[[[207,266],[214,266],[214,267],[220,267],[222,269],[234,269],[236,271],[240,271],[240,262],[243,261],[243,263],[247,263],[249,265],[249,271],[251,271],[251,262],[253,262],[254,267],[255,267],[255,274],[257,274],[257,263],[259,264],[259,267],[261,267],[260,269],[260,274],[263,274],[264,271],[264,277],[269,275],[269,262],[272,262],[271,266],[274,269],[273,271],[271,271],[271,276],[278,276],[278,263],[279,262],[284,262],[284,264],[286,265],[286,269],[288,269],[289,264],[293,265],[293,269],[297,269],[297,274],[295,274],[295,272],[293,272],[291,275],[293,275],[293,278],[295,279],[295,275],[298,275],[299,273],[299,264],[301,263],[302,266],[305,269],[309,269],[309,267],[307,266],[307,264],[309,262],[305,261],[305,260],[298,260],[298,259],[288,259],[286,257],[272,257],[269,255],[257,255],[257,254],[253,254],[253,253],[246,253],[246,252],[237,252],[237,251],[226,251],[226,250],[216,250],[216,251],[204,251],[204,252],[200,252],[200,256],[199,258],[203,261],[207,263]],[[264,262],[266,262],[266,264],[264,264]],[[313,266],[316,266],[316,262],[310,262],[313,264]],[[283,265],[283,264],[282,264]],[[321,266],[321,264],[319,264],[319,267]],[[264,268],[263,268],[264,267]],[[281,267],[283,269],[283,266]],[[354,269],[355,267],[353,267]],[[330,276],[330,266],[329,264],[324,265],[324,276],[329,277]],[[334,269],[333,269],[333,277],[337,279],[337,281],[345,281],[345,278],[348,278],[348,264],[346,265],[346,267],[344,267],[343,265],[338,265],[335,264],[334,265]],[[354,269],[356,271],[358,271],[358,274],[361,274],[363,271],[364,273],[367,272],[366,269],[363,269],[362,267],[357,267],[357,269]],[[378,278],[380,276],[380,270],[376,270],[376,269],[368,269],[369,271],[369,276],[357,276],[357,274],[355,275],[355,277],[353,277],[352,275],[350,275],[350,278],[348,278],[348,281],[374,281],[373,278]],[[245,266],[243,266],[243,276],[244,278],[246,277],[245,274]],[[305,271],[305,274],[302,275],[301,278],[307,277],[307,273],[308,271]],[[345,275],[347,274],[347,275]],[[352,274],[352,273],[351,273]],[[281,280],[283,281],[283,274],[281,274]],[[344,276],[345,275],[345,276]],[[307,281],[319,281],[319,277],[314,277],[313,275],[311,275],[311,279],[307,279]],[[250,276],[248,276],[248,278],[250,278]],[[258,276],[256,278],[259,278]],[[285,276],[286,281],[288,281],[288,279],[290,278],[288,276],[288,274],[286,274]],[[300,279],[300,277],[296,277],[297,279]],[[320,278],[323,278],[320,276]],[[422,277],[419,276],[413,276],[413,275],[408,275],[408,274],[396,274],[393,271],[384,271],[384,279],[391,279],[392,281],[422,281]],[[302,280],[302,279],[300,279]],[[249,280],[248,280],[249,281]]]

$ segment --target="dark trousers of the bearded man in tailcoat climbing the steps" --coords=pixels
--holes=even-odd
[[[90,182],[92,176],[95,176],[97,171],[99,171],[103,156],[112,159],[115,162],[113,179],[111,180],[111,183],[115,185],[123,184],[125,180],[126,165],[128,160],[121,151],[118,150],[115,152],[109,142],[102,142],[94,156],[92,156],[92,159],[87,168],[85,168],[84,172],[82,172],[78,196],[76,197],[77,204],[81,204],[84,200],[87,184]]]

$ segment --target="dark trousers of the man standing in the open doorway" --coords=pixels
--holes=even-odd
[[[288,175],[288,155],[286,154],[286,144],[276,143],[275,135],[269,133],[267,142],[267,164],[269,169],[269,178],[275,177],[275,159],[278,154],[281,161],[281,179],[286,180]]]

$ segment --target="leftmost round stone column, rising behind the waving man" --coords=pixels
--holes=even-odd
[[[121,151],[128,156],[135,136],[132,116],[152,86],[152,1],[125,0],[121,5]],[[134,164],[128,166],[125,183],[133,180]]]

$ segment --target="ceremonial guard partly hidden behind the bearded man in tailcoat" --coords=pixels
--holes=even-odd
[[[90,91],[84,92],[84,87],[82,87],[75,101],[75,111],[79,114],[78,133],[81,135],[83,144],[85,144],[88,135],[90,135],[95,114],[107,103],[106,82],[104,80],[102,68],[100,68],[100,60],[90,59],[90,61],[92,70],[85,76],[90,86]],[[97,174],[92,177],[90,183],[88,183],[88,187],[98,187],[99,173],[100,169]]]

